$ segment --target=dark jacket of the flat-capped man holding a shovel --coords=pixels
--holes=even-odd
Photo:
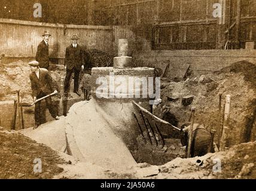
[[[35,72],[32,72],[29,78],[31,79],[33,97],[38,96],[41,91],[45,94],[51,94],[53,91],[57,90],[47,69],[39,69],[39,79]]]

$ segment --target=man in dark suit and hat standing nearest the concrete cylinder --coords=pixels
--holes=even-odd
[[[64,84],[64,93],[68,94],[69,81],[71,79],[72,73],[74,72],[74,93],[78,96],[81,96],[81,94],[78,91],[78,88],[80,71],[84,70],[84,51],[83,48],[77,44],[78,39],[79,38],[77,35],[72,35],[72,44],[66,48],[66,78]]]

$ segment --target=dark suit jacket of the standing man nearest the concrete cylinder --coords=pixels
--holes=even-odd
[[[77,44],[77,48],[73,45],[69,45],[66,48],[65,54],[65,66],[66,69],[72,70],[74,67],[77,70],[81,70],[81,66],[84,65],[84,51],[80,45]]]

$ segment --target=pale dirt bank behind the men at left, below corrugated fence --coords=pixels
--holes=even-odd
[[[80,87],[90,90],[90,75],[88,71],[80,73]],[[4,64],[0,67],[0,101],[7,101],[17,99],[17,90],[20,90],[20,96],[22,101],[31,100],[31,81],[29,79],[28,62],[26,61],[14,61],[12,63]],[[50,65],[50,74],[53,78],[53,82],[58,92],[63,91],[63,84],[66,76],[64,66]],[[71,79],[70,92],[73,92],[74,80]],[[58,96],[60,98],[60,94]],[[53,97],[56,98],[56,97]],[[69,95],[69,99],[78,98],[74,94]],[[58,100],[56,98],[56,100]]]

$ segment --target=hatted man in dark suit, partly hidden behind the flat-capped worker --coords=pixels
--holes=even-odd
[[[48,41],[49,41],[49,38],[51,35],[48,31],[44,31],[44,34],[42,36],[44,36],[44,39],[42,40],[42,42],[40,42],[40,44],[37,47],[35,59],[36,59],[36,61],[39,62],[39,66],[41,68],[45,68],[48,70],[48,68],[49,68]]]

